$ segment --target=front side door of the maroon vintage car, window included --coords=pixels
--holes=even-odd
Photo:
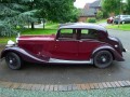
[[[73,29],[62,29],[60,31],[60,37],[55,40],[52,51],[54,58],[67,60],[78,59],[78,42],[73,37]]]

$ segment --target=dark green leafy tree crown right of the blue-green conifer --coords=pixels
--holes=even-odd
[[[54,23],[74,22],[78,17],[73,0],[37,0],[35,9],[38,10],[36,16]]]

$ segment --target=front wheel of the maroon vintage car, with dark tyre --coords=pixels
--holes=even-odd
[[[18,70],[22,68],[22,59],[20,56],[13,52],[10,52],[5,56],[5,61],[9,68],[13,70]]]

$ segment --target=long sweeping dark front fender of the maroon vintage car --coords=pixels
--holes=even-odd
[[[18,46],[13,46],[13,47],[5,47],[2,52],[1,52],[1,58],[5,57],[5,55],[9,52],[13,52],[16,53],[23,60],[25,61],[30,61],[30,63],[38,63],[38,64],[42,64],[42,63],[48,63],[49,61],[49,57],[43,56],[41,57],[37,57],[36,55],[18,47]]]

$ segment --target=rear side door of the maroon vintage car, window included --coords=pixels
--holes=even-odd
[[[79,59],[89,60],[93,50],[101,44],[101,42],[96,39],[98,34],[94,32],[95,30],[88,30],[88,29],[81,30],[81,36],[78,41]]]

